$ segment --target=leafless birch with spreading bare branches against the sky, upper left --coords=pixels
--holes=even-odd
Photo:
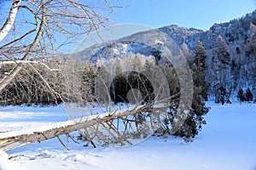
[[[9,9],[5,9],[8,15],[0,29],[0,65],[12,64],[13,68],[3,75],[0,93],[14,81],[21,68],[60,63],[60,56],[67,56],[91,31],[109,24],[109,14],[114,8],[108,0],[13,0],[5,3],[9,4]],[[46,85],[45,77],[40,78],[51,88]],[[54,89],[50,91],[55,94]]]

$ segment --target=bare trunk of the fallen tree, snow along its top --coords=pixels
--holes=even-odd
[[[132,116],[139,112],[145,111],[146,108],[147,107],[140,109],[137,108],[132,111],[124,111],[118,114],[114,113],[108,116],[98,115],[84,117],[81,119],[73,119],[67,122],[58,122],[47,127],[38,127],[32,129],[24,129],[21,131],[0,133],[0,150],[13,150],[25,144],[42,142],[44,140],[53,139],[55,137],[59,138],[60,135],[79,131],[80,129],[87,129],[88,127],[93,127],[96,125],[102,125],[102,127],[105,127],[104,123],[106,123],[108,127],[113,127],[113,124],[109,124],[109,122],[113,122],[113,120],[119,119],[120,117]],[[118,130],[115,132],[118,133],[119,138],[122,138],[122,140],[127,140],[121,136]],[[85,136],[90,142],[93,139],[90,137],[89,133],[87,133]],[[118,142],[123,143],[122,141]]]

